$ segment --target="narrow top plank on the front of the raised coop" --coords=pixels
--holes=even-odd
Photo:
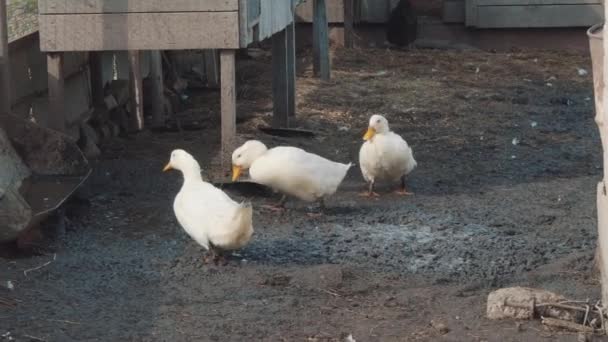
[[[239,0],[40,0],[40,14],[238,11]]]

